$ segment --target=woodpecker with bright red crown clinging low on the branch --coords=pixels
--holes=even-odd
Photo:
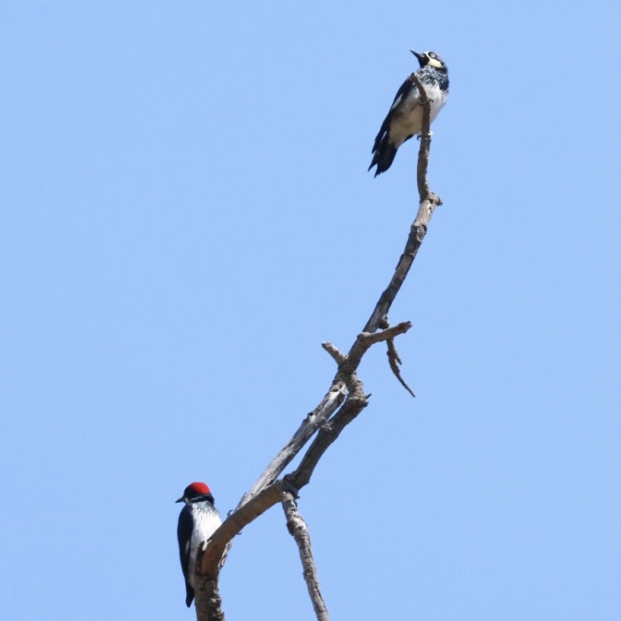
[[[183,496],[174,502],[183,502],[185,506],[179,514],[177,540],[179,540],[179,557],[183,578],[185,578],[185,604],[191,606],[194,599],[196,576],[196,557],[201,546],[207,544],[211,535],[222,523],[220,514],[214,506],[214,497],[205,483],[190,483],[183,490]]]

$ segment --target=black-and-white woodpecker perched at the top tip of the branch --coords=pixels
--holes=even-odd
[[[410,50],[418,58],[421,68],[414,75],[421,81],[427,97],[430,98],[431,115],[433,123],[438,112],[447,103],[448,97],[448,70],[444,61],[434,52],[419,54]],[[390,168],[399,149],[405,140],[410,140],[414,135],[422,131],[422,105],[420,93],[416,84],[409,77],[396,91],[395,101],[388,110],[387,117],[379,130],[379,134],[373,144],[371,153],[373,159],[369,170],[373,166],[375,175],[384,173]]]

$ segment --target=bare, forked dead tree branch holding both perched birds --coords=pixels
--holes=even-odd
[[[419,81],[414,74],[410,76],[410,79],[416,84],[421,94],[423,117],[421,146],[417,164],[417,187],[420,202],[418,213],[410,227],[410,234],[405,243],[404,251],[387,288],[379,296],[379,301],[371,313],[370,319],[367,321],[364,328],[362,328],[362,332],[356,337],[349,352],[346,354],[342,353],[331,344],[323,345],[324,349],[337,364],[336,375],[326,395],[317,407],[311,413],[307,414],[300,427],[295,431],[285,447],[283,447],[268,464],[266,470],[260,475],[251,489],[242,497],[231,515],[225,519],[208,541],[207,549],[205,549],[204,554],[202,554],[197,563],[198,575],[195,595],[198,621],[223,621],[225,618],[218,594],[218,579],[220,569],[224,565],[227,551],[231,546],[234,536],[241,532],[242,528],[264,513],[270,506],[276,505],[279,501],[283,502],[288,523],[291,523],[292,521],[287,513],[287,507],[293,511],[291,502],[295,505],[293,498],[297,495],[297,490],[311,481],[312,473],[319,463],[321,456],[324,455],[328,447],[338,438],[341,431],[369,404],[369,396],[365,394],[362,381],[357,375],[358,366],[362,361],[364,353],[368,351],[371,345],[385,341],[388,345],[391,367],[393,363],[396,366],[397,363],[401,362],[396,353],[394,339],[396,336],[407,332],[407,330],[411,328],[411,323],[406,321],[397,324],[393,328],[388,328],[387,313],[392,303],[395,301],[396,294],[404,284],[405,277],[412,267],[413,260],[427,233],[427,227],[434,210],[438,205],[442,204],[438,195],[430,191],[430,185],[427,181],[427,167],[429,165],[431,144],[430,100],[427,97],[421,81]],[[383,329],[378,332],[379,328]],[[398,367],[396,371],[393,369],[393,372],[396,372],[397,379],[401,381],[404,387],[408,388],[398,373]],[[311,442],[311,446],[308,447],[306,453],[302,456],[299,466],[293,472],[286,474],[283,479],[279,479],[286,466],[291,463],[293,458],[300,453],[302,447],[304,447],[313,436],[315,436],[315,438]],[[286,506],[285,503],[287,503]],[[296,515],[299,516],[299,514]],[[293,517],[295,517],[295,515],[293,515]],[[295,519],[297,520],[297,518]],[[302,520],[301,517],[300,519]],[[298,524],[297,521],[295,523]],[[305,523],[302,530],[307,530]],[[306,532],[306,534],[308,534],[308,532]],[[298,543],[298,545],[300,545],[300,543]],[[312,556],[310,556],[310,558],[312,559]],[[304,575],[306,578],[306,566],[304,567]],[[308,580],[307,584],[309,584]],[[318,618],[328,619],[328,610],[321,598],[316,576],[311,579],[309,592],[311,593],[313,607],[315,607]],[[319,599],[317,599],[317,596],[319,596]],[[319,613],[325,614],[325,617],[319,617]]]

